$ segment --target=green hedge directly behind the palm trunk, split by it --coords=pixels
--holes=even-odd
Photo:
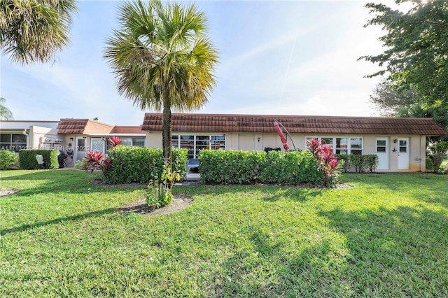
[[[179,171],[181,176],[186,173],[187,153],[186,149],[172,151],[173,170]],[[153,173],[161,176],[162,149],[116,146],[109,150],[108,155],[111,164],[102,171],[106,183],[148,183]]]

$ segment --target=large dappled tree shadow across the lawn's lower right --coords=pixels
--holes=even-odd
[[[429,209],[321,211],[330,234],[282,242],[252,227],[221,264],[216,297],[445,297],[448,216]],[[265,231],[265,232],[263,232]]]

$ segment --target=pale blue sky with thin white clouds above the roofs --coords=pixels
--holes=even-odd
[[[184,2],[187,3],[187,2]],[[368,99],[381,52],[365,1],[196,1],[219,51],[218,83],[195,113],[375,115]],[[120,97],[102,58],[120,1],[78,1],[71,45],[53,64],[20,66],[1,56],[0,95],[15,120],[94,118],[141,125],[145,112]]]

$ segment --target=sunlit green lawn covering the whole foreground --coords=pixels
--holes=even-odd
[[[175,186],[191,206],[120,215],[144,187],[1,171],[0,297],[447,297],[448,176],[349,189]]]

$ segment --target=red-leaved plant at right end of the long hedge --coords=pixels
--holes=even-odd
[[[332,149],[328,145],[321,145],[318,139],[307,140],[307,148],[311,151],[318,164],[318,169],[323,171],[323,186],[332,187],[339,181],[339,173],[342,169]]]

